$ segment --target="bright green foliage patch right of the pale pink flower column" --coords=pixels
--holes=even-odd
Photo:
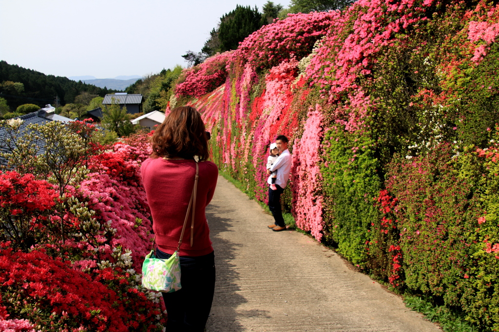
[[[357,266],[367,261],[371,223],[380,219],[373,199],[381,188],[375,142],[333,127],[324,136],[324,235]]]

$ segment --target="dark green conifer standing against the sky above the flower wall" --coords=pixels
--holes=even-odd
[[[239,43],[261,27],[258,8],[237,5],[236,9],[220,18],[218,36],[221,52],[236,49]]]

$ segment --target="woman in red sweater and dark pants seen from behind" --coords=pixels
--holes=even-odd
[[[217,186],[218,167],[208,162],[208,135],[199,112],[190,106],[175,108],[151,138],[153,153],[142,163],[142,180],[153,217],[156,255],[168,259],[177,249],[196,176],[195,206],[180,246],[182,289],[163,293],[166,331],[203,331],[215,290],[215,256],[205,208]],[[192,230],[193,229],[193,230]],[[191,245],[192,243],[192,245]]]

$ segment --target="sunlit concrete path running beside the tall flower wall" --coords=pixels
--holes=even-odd
[[[207,332],[441,331],[334,251],[271,215],[224,177],[207,208],[217,284]]]

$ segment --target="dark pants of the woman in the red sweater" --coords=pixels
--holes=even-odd
[[[170,258],[156,249],[161,259]],[[180,257],[182,289],[163,293],[168,321],[167,332],[203,332],[212,308],[215,292],[215,254]]]

